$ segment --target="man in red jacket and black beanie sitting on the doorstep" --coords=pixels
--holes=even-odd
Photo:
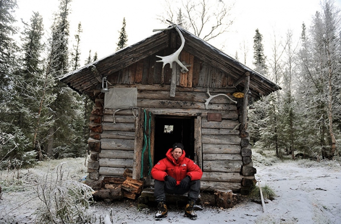
[[[185,207],[185,216],[196,219],[193,210],[195,201],[200,193],[200,179],[203,172],[193,160],[185,157],[184,146],[176,143],[166,153],[166,158],[161,159],[152,169],[155,179],[154,196],[158,204],[156,220],[167,217],[168,210],[165,204],[167,193],[184,194],[188,192],[188,203]]]

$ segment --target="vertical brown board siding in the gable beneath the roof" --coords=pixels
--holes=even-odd
[[[165,65],[156,62],[160,60],[156,55],[164,56],[173,53],[172,49],[167,48],[156,54],[135,62],[134,64],[121,69],[108,76],[108,81],[115,84],[165,84],[171,83],[172,69],[169,64]],[[216,69],[215,67],[200,61],[194,55],[182,51],[180,61],[188,66],[188,72],[178,72],[177,85],[180,87],[209,87],[225,88],[233,86],[231,75]],[[175,67],[174,69],[179,69]]]

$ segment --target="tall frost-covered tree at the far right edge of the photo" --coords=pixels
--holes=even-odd
[[[306,39],[300,51],[303,74],[302,85],[310,104],[309,112],[318,130],[319,149],[322,158],[332,158],[336,151],[334,119],[339,115],[340,102],[340,12],[332,1],[322,5],[322,11],[315,14],[310,29],[310,39]],[[307,88],[308,87],[308,88]],[[315,149],[317,152],[317,149]]]

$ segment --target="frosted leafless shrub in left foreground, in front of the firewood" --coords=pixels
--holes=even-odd
[[[59,164],[54,175],[45,178],[38,184],[37,193],[41,205],[36,211],[38,223],[89,223],[92,188],[86,184],[64,180],[68,170]]]

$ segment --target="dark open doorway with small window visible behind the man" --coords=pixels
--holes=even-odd
[[[155,117],[154,164],[174,143],[182,143],[186,157],[194,160],[194,117]]]

